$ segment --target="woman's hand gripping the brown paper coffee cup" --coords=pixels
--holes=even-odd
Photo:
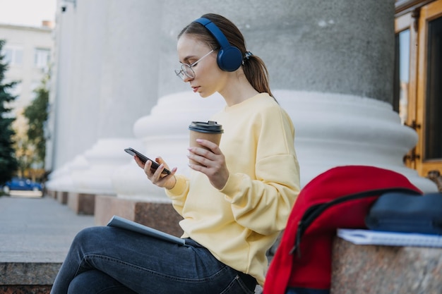
[[[227,169],[224,154],[220,147],[213,142],[203,139],[197,139],[199,145],[207,147],[189,147],[189,159],[198,162],[198,164],[189,164],[190,168],[195,171],[201,171],[210,180],[213,187],[221,190],[224,188],[229,178],[229,170]]]

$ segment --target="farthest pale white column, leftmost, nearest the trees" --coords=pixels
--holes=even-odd
[[[97,139],[100,113],[100,69],[106,37],[105,0],[58,1],[56,15],[55,71],[52,76],[53,104],[52,173],[47,188],[73,191],[71,171],[87,170],[89,163],[80,154]],[[51,151],[50,149],[48,151]],[[80,159],[80,160],[79,160]],[[80,164],[78,164],[80,162]]]

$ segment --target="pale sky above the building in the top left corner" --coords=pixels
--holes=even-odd
[[[40,27],[55,20],[56,0],[0,0],[0,23]]]

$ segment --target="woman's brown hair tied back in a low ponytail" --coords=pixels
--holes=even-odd
[[[208,20],[212,21],[212,23],[219,27],[221,32],[227,38],[227,41],[229,41],[233,47],[237,47],[239,51],[241,51],[244,58],[247,51],[246,42],[244,41],[244,37],[239,31],[238,27],[234,25],[234,23],[224,16],[220,16],[215,13],[208,13],[201,17],[208,18]],[[215,37],[213,37],[213,35],[211,35],[210,32],[200,23],[190,23],[184,27],[184,29],[178,34],[178,38],[184,34],[198,36],[202,42],[205,42],[214,50],[220,48],[220,44],[218,44]],[[270,92],[270,85],[268,82],[268,71],[263,60],[255,55],[251,55],[248,59],[243,60],[244,62],[242,68],[252,87],[260,93],[267,92],[273,97],[272,92]]]

